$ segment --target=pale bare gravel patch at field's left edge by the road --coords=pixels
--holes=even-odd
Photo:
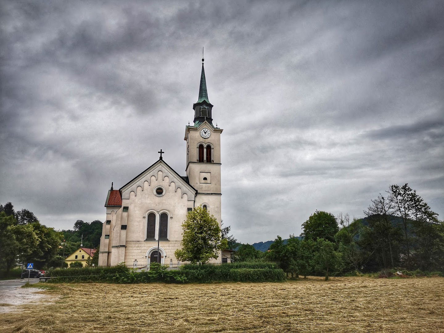
[[[54,301],[44,289],[16,288],[0,290],[0,313],[17,311],[18,305],[36,306],[41,302]]]

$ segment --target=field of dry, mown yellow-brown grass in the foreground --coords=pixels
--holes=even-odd
[[[0,314],[0,332],[444,332],[442,277],[62,284],[45,293],[61,297]]]

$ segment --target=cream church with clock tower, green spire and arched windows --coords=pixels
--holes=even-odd
[[[213,124],[203,61],[199,97],[193,104],[194,125],[185,126],[186,175],[179,175],[163,160],[161,149],[155,163],[119,190],[111,185],[105,201],[99,266],[178,263],[174,251],[181,248],[182,222],[197,206],[208,210],[221,226],[223,130]],[[230,262],[230,252],[222,250],[215,262]]]

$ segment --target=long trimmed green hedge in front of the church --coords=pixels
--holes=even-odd
[[[138,272],[123,265],[106,269],[75,269],[77,274],[64,274],[53,270],[48,275],[51,282],[112,282],[112,283],[148,283],[148,282],[281,282],[285,281],[283,270],[275,268],[234,268],[229,265],[198,265],[196,269],[167,270],[167,266],[151,264],[149,271]],[[71,270],[71,269],[69,269]],[[74,269],[72,269],[74,270]],[[92,270],[92,271],[91,271]],[[85,274],[82,274],[83,271]]]

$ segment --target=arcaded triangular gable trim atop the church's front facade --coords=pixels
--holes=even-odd
[[[168,164],[163,162],[163,160],[159,159],[156,163],[149,166],[146,170],[144,170],[141,174],[133,178],[130,182],[125,184],[120,188],[120,193],[122,194],[122,199],[129,199],[130,193],[137,193],[137,187],[142,187],[143,183],[148,182],[151,186],[151,177],[154,176],[157,180],[158,172],[162,171],[162,180],[168,177],[168,185],[171,186],[171,183],[174,183],[174,191],[177,192],[178,189],[182,192],[181,198],[183,198],[183,194],[187,195],[188,201],[194,201],[194,196],[197,192],[193,186],[188,184],[182,176],[180,176],[176,171],[174,171]]]

